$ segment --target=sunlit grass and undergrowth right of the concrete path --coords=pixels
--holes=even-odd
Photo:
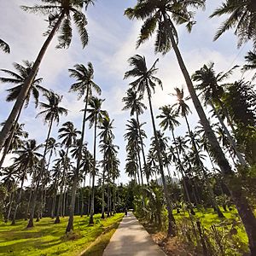
[[[193,222],[194,224],[195,221],[201,222],[207,250],[213,252],[210,255],[215,253],[214,255],[235,256],[247,253],[247,235],[236,210],[223,211],[223,213],[224,218],[218,218],[213,209],[201,209],[201,211],[195,209],[195,216],[192,216]],[[173,215],[177,223],[177,236],[168,239],[166,239],[166,222],[160,228],[146,218],[140,218],[140,216],[137,218],[140,218],[145,229],[167,255],[202,255],[201,240],[195,241],[195,233],[192,231],[188,212],[173,211]],[[166,212],[163,218],[167,220]],[[212,229],[212,225],[215,229]],[[198,230],[197,236],[199,237]]]

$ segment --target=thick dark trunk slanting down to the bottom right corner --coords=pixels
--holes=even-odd
[[[170,20],[170,22],[172,22],[172,21]],[[215,135],[212,131],[211,125],[209,124],[209,122],[207,120],[207,116],[204,113],[203,108],[201,107],[201,102],[199,101],[198,96],[195,93],[195,88],[194,88],[192,81],[189,77],[189,72],[183,62],[182,55],[180,54],[180,51],[177,48],[177,44],[173,37],[171,27],[169,29],[169,34],[170,34],[170,38],[171,38],[171,42],[172,42],[172,47],[177,56],[177,61],[178,61],[179,67],[181,68],[181,71],[183,73],[183,77],[186,81],[186,84],[187,84],[187,87],[189,90],[189,94],[190,94],[191,99],[195,106],[195,110],[201,119],[201,124],[204,127],[208,141],[212,147],[212,152],[214,154],[214,157],[215,157],[216,161],[218,162],[218,166],[219,166],[221,172],[224,175],[225,182],[227,183],[227,186],[230,189],[230,194],[231,194],[232,200],[234,201],[237,211],[241,217],[241,221],[245,226],[251,253],[252,254],[254,253],[254,255],[256,255],[256,218],[253,215],[253,211],[252,211],[251,207],[249,207],[246,197],[242,193],[241,187],[235,185],[237,183],[237,181],[236,181],[234,172],[232,172],[230,164],[229,164],[228,160],[226,160],[224,153],[218,144],[217,138],[215,137]]]

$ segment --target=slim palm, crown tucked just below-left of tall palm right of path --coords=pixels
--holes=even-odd
[[[143,95],[137,95],[136,91],[132,90],[131,88],[129,88],[126,93],[127,96],[125,96],[122,100],[122,102],[125,102],[125,107],[123,108],[123,110],[131,109],[130,115],[136,114],[137,124],[139,128],[139,141],[141,143],[140,146],[143,153],[144,170],[145,172],[147,172],[147,161],[144,152],[143,137],[141,135],[141,125],[139,121],[139,115],[143,114],[143,110],[147,109],[147,107],[145,106],[145,104],[143,104],[143,102],[141,102],[143,100]]]

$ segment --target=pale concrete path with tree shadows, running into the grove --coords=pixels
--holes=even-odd
[[[103,256],[165,256],[133,213],[128,212],[113,234]]]

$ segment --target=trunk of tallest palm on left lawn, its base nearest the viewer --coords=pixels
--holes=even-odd
[[[80,169],[80,161],[82,158],[82,148],[83,148],[83,143],[84,143],[85,121],[86,121],[88,98],[89,98],[89,88],[87,88],[86,96],[85,96],[85,107],[84,107],[83,125],[82,125],[82,133],[81,133],[81,142],[79,145],[79,156],[78,156],[77,167],[75,170],[75,175],[73,178],[73,185],[72,185],[72,190],[71,190],[71,202],[70,202],[70,206],[69,206],[69,218],[68,218],[68,223],[67,223],[67,228],[66,228],[66,234],[67,234],[67,232],[70,232],[71,230],[73,230],[73,214],[74,214],[74,207],[75,207],[75,202],[76,202],[77,186],[79,183],[79,169]]]

